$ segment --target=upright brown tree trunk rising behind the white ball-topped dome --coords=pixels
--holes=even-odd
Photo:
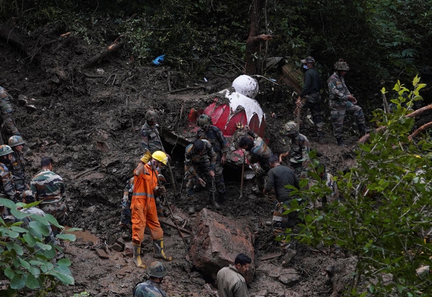
[[[246,66],[244,70],[246,75],[254,75],[259,72],[258,59],[254,55],[258,56],[259,43],[263,40],[261,36],[258,36],[263,4],[264,0],[254,0],[252,5],[250,31],[246,40]]]

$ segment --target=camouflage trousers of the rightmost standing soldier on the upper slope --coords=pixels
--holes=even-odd
[[[337,138],[342,135],[345,113],[354,114],[357,127],[365,122],[363,110],[360,106],[352,104],[351,101],[337,102],[330,100],[329,106],[331,109],[331,121],[333,122],[333,135]]]

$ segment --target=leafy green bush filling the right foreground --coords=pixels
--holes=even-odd
[[[301,242],[337,244],[357,256],[354,286],[347,293],[350,296],[365,292],[366,287],[356,287],[359,280],[371,282],[374,296],[424,296],[420,292],[432,288],[430,276],[416,276],[416,269],[429,265],[432,255],[431,244],[423,239],[432,226],[432,145],[408,140],[414,119],[405,116],[410,112],[407,106],[418,99],[419,90],[425,86],[419,80],[416,76],[412,91],[399,81],[395,85],[399,97],[392,100],[397,104],[394,114],[375,111],[378,126],[387,129],[359,145],[354,168],[344,175],[339,172],[337,185],[346,201],[336,201],[324,212],[305,209],[297,201],[290,208],[299,210],[305,222],[301,235],[296,236]],[[316,202],[329,194],[318,173],[309,171],[320,182],[298,191],[300,197]],[[384,284],[383,274],[392,274],[393,283]]]

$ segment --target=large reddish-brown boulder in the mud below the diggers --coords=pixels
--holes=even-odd
[[[234,264],[235,257],[244,253],[252,259],[245,279],[247,283],[252,281],[255,272],[253,237],[246,226],[203,209],[193,225],[191,238],[189,255],[202,273],[216,280],[221,268]]]

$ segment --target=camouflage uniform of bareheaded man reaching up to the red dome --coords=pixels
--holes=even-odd
[[[268,158],[273,154],[271,149],[267,146],[267,143],[259,137],[257,134],[252,131],[248,131],[249,134],[255,141],[253,142],[253,147],[249,150],[246,150],[246,158],[251,164],[259,163],[259,167],[255,170],[256,184],[258,185],[258,189],[261,192],[265,186],[264,176],[270,170],[270,164],[268,162]]]

